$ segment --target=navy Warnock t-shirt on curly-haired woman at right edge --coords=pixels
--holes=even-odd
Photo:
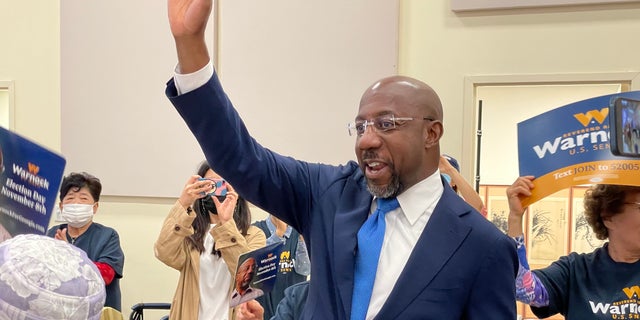
[[[533,313],[560,313],[566,320],[640,319],[640,261],[615,262],[607,248],[608,243],[591,253],[571,253],[534,270],[549,293],[549,306],[532,307]]]

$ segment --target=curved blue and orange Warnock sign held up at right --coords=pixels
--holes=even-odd
[[[518,123],[520,175],[535,176],[524,205],[575,185],[640,186],[640,159],[610,150],[609,106],[620,97],[640,100],[640,91],[578,101]]]

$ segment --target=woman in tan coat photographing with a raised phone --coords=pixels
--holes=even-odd
[[[201,178],[212,179],[202,180]],[[156,257],[180,271],[169,319],[231,319],[229,293],[238,257],[261,248],[264,232],[251,225],[248,203],[204,162],[164,221]],[[224,197],[210,195],[226,186]]]

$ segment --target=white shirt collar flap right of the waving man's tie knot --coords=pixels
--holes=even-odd
[[[407,220],[413,225],[426,213],[431,215],[440,200],[444,186],[440,178],[440,170],[436,170],[426,179],[411,186],[398,195],[398,202]]]

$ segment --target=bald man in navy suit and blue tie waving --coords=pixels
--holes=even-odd
[[[204,36],[211,7],[169,0],[179,76],[166,94],[211,167],[304,236],[313,276],[301,319],[515,319],[515,245],[444,185],[436,92],[403,76],[367,88],[349,126],[358,162],[282,156],[249,135],[214,73]],[[358,241],[372,225],[371,234],[383,231],[371,241],[373,262],[362,254],[371,243]],[[372,284],[361,285],[362,274]]]

